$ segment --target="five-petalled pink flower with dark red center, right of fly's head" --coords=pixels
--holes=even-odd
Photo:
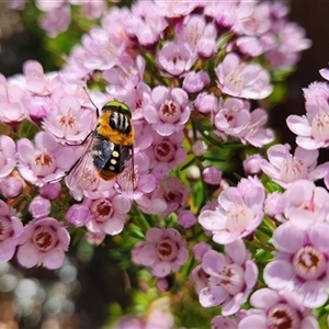
[[[161,136],[182,131],[190,118],[188,93],[181,88],[156,87],[149,103],[144,107],[146,121]]]

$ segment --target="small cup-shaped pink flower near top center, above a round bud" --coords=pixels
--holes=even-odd
[[[190,71],[196,56],[183,43],[166,42],[157,53],[156,63],[164,77],[179,77]]]

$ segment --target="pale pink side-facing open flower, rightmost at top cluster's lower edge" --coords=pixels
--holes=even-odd
[[[269,97],[273,90],[270,76],[258,64],[243,64],[238,55],[226,55],[215,72],[218,88],[232,97],[259,100]]]

